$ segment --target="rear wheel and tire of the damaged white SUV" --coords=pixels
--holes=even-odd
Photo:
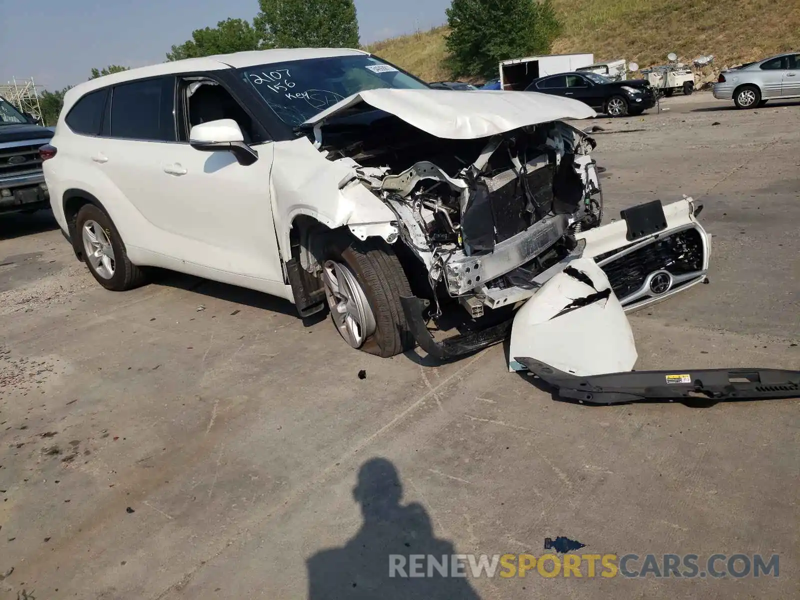
[[[94,234],[97,244],[91,241],[92,234]],[[82,206],[81,210],[78,210],[78,216],[75,219],[75,235],[78,237],[75,243],[81,248],[83,262],[86,262],[92,276],[106,290],[115,292],[132,290],[145,282],[145,273],[142,267],[130,262],[125,244],[122,242],[114,222],[98,206],[86,204]],[[107,252],[109,246],[110,255]],[[101,253],[101,258],[93,260],[97,252]]]

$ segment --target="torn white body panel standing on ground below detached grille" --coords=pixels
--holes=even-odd
[[[525,370],[515,357],[536,358],[582,376],[632,370],[638,358],[634,334],[614,291],[556,316],[576,298],[610,288],[592,259],[578,258],[570,266],[586,274],[594,287],[563,272],[546,282],[514,317],[509,370]]]

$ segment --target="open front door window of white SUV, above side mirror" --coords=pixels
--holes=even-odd
[[[242,137],[247,144],[264,141],[264,136],[254,125],[250,114],[242,108],[230,92],[213,80],[189,82],[181,85],[180,96],[185,98],[186,126],[181,133],[181,141],[189,139],[191,128],[200,123],[218,121],[223,118],[233,119],[242,130]]]

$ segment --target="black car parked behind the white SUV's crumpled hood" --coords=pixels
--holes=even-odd
[[[575,98],[610,117],[642,114],[655,106],[655,92],[645,79],[614,82],[596,73],[559,73],[534,79],[526,92]]]

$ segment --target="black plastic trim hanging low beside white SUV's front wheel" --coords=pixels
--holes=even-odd
[[[514,318],[510,318],[485,330],[472,331],[469,334],[456,335],[437,342],[430,334],[425,318],[425,311],[428,310],[430,302],[416,296],[402,296],[400,304],[406,313],[406,322],[411,334],[417,340],[419,347],[439,360],[456,358],[494,346],[508,337],[514,324]]]

